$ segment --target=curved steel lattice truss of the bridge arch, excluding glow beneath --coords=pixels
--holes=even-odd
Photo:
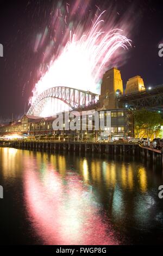
[[[47,103],[47,99],[53,97],[66,103],[71,109],[78,107],[86,107],[96,103],[97,94],[91,92],[85,92],[69,87],[53,87],[45,90],[39,96],[37,96],[33,105],[30,106],[28,113],[29,115],[39,115],[43,106]]]

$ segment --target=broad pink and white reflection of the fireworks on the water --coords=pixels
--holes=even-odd
[[[85,160],[83,162],[85,166]],[[44,243],[52,245],[114,245],[109,228],[99,214],[89,187],[80,176],[67,171],[65,179],[51,164],[40,177],[24,162],[24,200],[30,221]],[[85,167],[86,168],[86,167]],[[85,172],[85,169],[84,169]]]

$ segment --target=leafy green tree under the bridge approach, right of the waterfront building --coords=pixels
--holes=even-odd
[[[140,109],[134,112],[135,133],[140,136],[140,132],[148,139],[152,137],[155,132],[160,131],[162,118],[158,112],[148,111],[147,109]]]

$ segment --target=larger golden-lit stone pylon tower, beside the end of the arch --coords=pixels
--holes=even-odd
[[[99,105],[101,108],[117,108],[117,96],[123,94],[123,82],[121,72],[117,68],[112,68],[105,72],[101,85],[101,95]]]

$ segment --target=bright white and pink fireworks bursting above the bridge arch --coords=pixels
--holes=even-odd
[[[79,1],[76,2],[79,4]],[[57,9],[52,25],[55,27],[55,23],[57,23],[57,29],[64,34],[62,29],[62,22],[64,22],[65,34],[62,35],[62,42],[59,42],[48,70],[44,75],[41,74],[40,80],[36,83],[33,96],[29,101],[30,104],[33,104],[36,97],[42,92],[56,86],[100,93],[99,84],[109,62],[112,58],[116,58],[115,54],[120,48],[126,49],[131,44],[130,40],[123,35],[122,29],[105,23],[104,17],[106,17],[107,11],[99,13],[99,8],[97,10],[98,16],[96,13],[94,19],[88,19],[86,24],[74,22],[76,25],[71,26],[72,22],[70,22],[68,26],[68,15],[72,18],[72,13],[78,11],[77,6],[75,5],[73,10],[69,10],[67,4],[65,15],[61,13],[61,8]],[[83,9],[84,11],[85,9]],[[69,18],[69,20],[71,19]],[[71,27],[72,29],[69,29]],[[57,34],[58,31],[55,33]],[[43,44],[46,35],[47,28],[42,38],[41,36],[37,38],[35,51],[39,45]],[[57,40],[56,38],[54,39]],[[51,51],[52,46],[51,43],[51,46],[46,48],[45,55]],[[64,103],[61,104],[64,105]],[[47,111],[49,111],[49,107],[43,115],[49,115]]]

